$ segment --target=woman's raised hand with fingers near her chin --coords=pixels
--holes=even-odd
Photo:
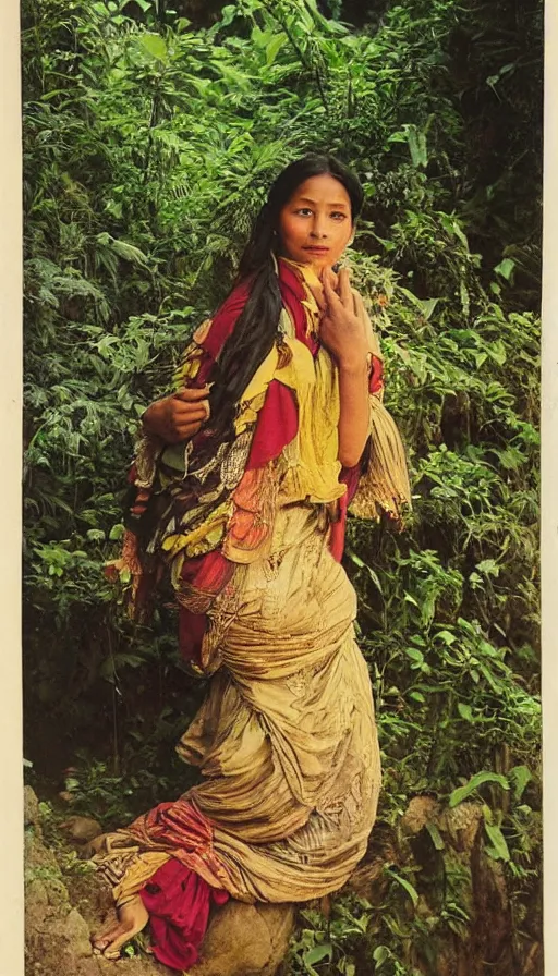
[[[369,349],[366,321],[355,300],[349,281],[349,271],[342,268],[337,277],[326,268],[322,282],[324,294],[316,294],[322,308],[319,339],[331,353],[340,369],[362,369]],[[337,289],[336,289],[337,284]]]

